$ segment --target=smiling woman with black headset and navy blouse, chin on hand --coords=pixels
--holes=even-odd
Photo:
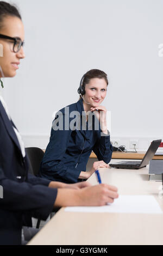
[[[55,116],[50,141],[41,163],[40,176],[72,183],[88,179],[100,167],[109,168],[112,145],[106,127],[106,108],[101,106],[107,86],[108,78],[105,72],[92,69],[84,74],[78,88],[80,94],[78,102],[60,109],[62,118],[58,119],[59,114]],[[81,122],[71,129],[71,113],[74,111],[77,112],[78,121]],[[67,113],[70,113],[70,117]],[[91,124],[90,114],[93,115],[90,119]],[[84,116],[85,121],[83,121]],[[64,122],[67,120],[68,126],[64,123],[62,130],[57,129],[57,120]],[[98,129],[95,129],[96,124]],[[86,172],[86,164],[92,150],[99,161],[94,162],[92,168]]]

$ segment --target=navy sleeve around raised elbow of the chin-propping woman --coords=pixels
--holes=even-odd
[[[110,132],[108,134],[101,132],[93,146],[93,152],[96,154],[99,161],[109,163],[112,156],[112,145],[110,143]]]

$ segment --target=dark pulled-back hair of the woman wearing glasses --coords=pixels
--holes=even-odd
[[[3,19],[6,16],[15,16],[22,20],[22,17],[14,5],[0,1],[0,28],[3,27]]]

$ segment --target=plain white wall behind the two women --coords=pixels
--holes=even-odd
[[[12,2],[26,29],[26,59],[3,94],[26,145],[46,147],[53,111],[78,100],[92,68],[109,77],[111,138],[163,139],[162,0]]]

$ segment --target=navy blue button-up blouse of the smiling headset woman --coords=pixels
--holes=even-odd
[[[78,121],[74,129],[69,129],[69,125],[71,127],[74,123],[74,111],[78,112]],[[83,118],[85,112],[82,99],[60,109],[59,112],[62,117],[59,117],[58,114],[55,115],[51,137],[41,162],[39,175],[49,180],[74,183],[79,181],[80,172],[86,170],[92,150],[99,161],[110,162],[112,155],[110,133],[105,135],[101,131],[96,117],[92,118],[92,122],[86,122],[86,119]],[[58,120],[63,121],[63,129],[57,130]],[[65,120],[67,120],[66,123]],[[98,129],[97,125],[95,126],[97,122]]]

